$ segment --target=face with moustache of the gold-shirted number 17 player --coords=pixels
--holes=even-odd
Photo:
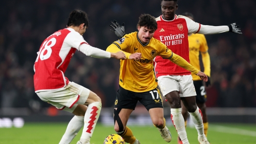
[[[142,43],[148,43],[155,33],[155,30],[146,27],[138,27],[138,30],[138,36]]]

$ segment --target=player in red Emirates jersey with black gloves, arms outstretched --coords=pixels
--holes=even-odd
[[[155,31],[154,38],[160,40],[174,53],[186,59],[188,62],[188,34],[216,34],[228,31],[242,34],[236,23],[228,26],[201,25],[186,16],[176,15],[177,8],[177,0],[161,0],[162,15],[156,18],[158,29]],[[111,25],[111,27],[114,30],[111,29],[111,31],[119,37],[125,35],[124,23],[122,26],[119,26],[116,21],[112,22],[112,24],[113,26]],[[171,106],[171,119],[183,144],[189,144],[189,141],[185,130],[185,121],[181,115],[180,100],[183,101],[195,125],[199,143],[209,144],[204,134],[202,113],[196,105],[196,92],[193,86],[191,72],[160,57],[156,57],[154,62],[155,74],[160,90]]]

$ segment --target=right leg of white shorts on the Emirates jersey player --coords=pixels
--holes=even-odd
[[[179,81],[180,97],[196,96],[195,88],[191,75],[182,75]]]

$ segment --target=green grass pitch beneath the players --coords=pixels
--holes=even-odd
[[[68,123],[25,123],[23,128],[0,128],[0,144],[59,144]],[[172,142],[166,143],[154,126],[128,126],[141,144],[177,144],[177,132],[168,125]],[[190,144],[199,144],[194,128],[187,128]],[[106,136],[115,133],[112,126],[97,124],[91,144],[103,144]],[[71,144],[76,144],[81,130]],[[210,144],[256,144],[256,125],[209,124]]]

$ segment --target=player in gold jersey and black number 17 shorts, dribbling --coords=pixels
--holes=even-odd
[[[137,101],[140,101],[148,110],[152,122],[160,131],[162,138],[166,142],[172,140],[171,133],[165,126],[162,100],[153,71],[153,59],[155,57],[160,56],[170,62],[172,61],[200,76],[202,80],[208,80],[205,73],[196,70],[159,40],[152,38],[157,27],[155,17],[150,14],[142,14],[137,24],[138,32],[125,35],[112,43],[106,50],[109,52],[124,51],[127,58],[136,52],[142,54],[142,58],[139,60],[125,59],[120,62],[120,86],[114,106],[114,130],[129,144],[140,144],[127,127],[128,118],[135,109]]]

